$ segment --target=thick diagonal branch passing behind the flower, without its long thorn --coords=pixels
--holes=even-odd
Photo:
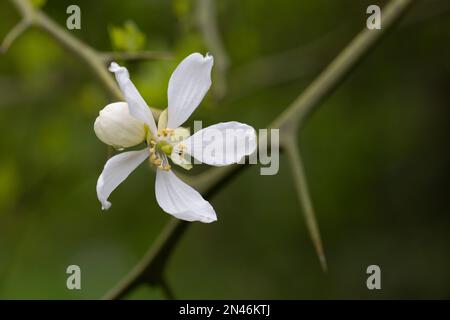
[[[305,119],[315,110],[320,103],[328,97],[337,86],[343,83],[345,77],[353,70],[353,68],[360,63],[363,58],[370,53],[370,50],[379,42],[381,36],[390,30],[396,22],[400,20],[414,0],[391,0],[388,6],[383,10],[383,26],[380,30],[364,29],[356,38],[331,62],[331,64],[317,77],[317,79],[301,94],[279,117],[277,117],[269,126],[269,128],[279,128],[281,139],[294,136],[299,129],[304,125]],[[200,180],[194,184],[199,190],[209,198],[211,192],[217,190],[217,187],[229,181],[238,171],[245,168],[244,165],[235,165],[228,167],[213,168],[207,170],[200,177]],[[207,179],[203,178],[207,177]],[[205,182],[205,184],[203,184]],[[163,238],[171,240],[170,248],[174,248],[176,242],[180,239],[180,232],[170,225],[174,224],[172,220],[168,227],[163,231]],[[185,222],[178,222],[182,224],[183,231],[188,224]],[[169,234],[168,234],[169,233]],[[173,234],[170,234],[173,233]],[[119,284],[119,289],[114,294],[108,294],[106,298],[120,298],[133,286],[135,279],[140,277],[139,270],[142,273],[158,274],[161,270],[152,270],[153,264],[166,264],[167,258],[170,256],[164,251],[165,248],[160,242],[150,249],[153,259],[144,259],[138,263],[129,275],[127,275]],[[156,261],[155,261],[155,260]],[[162,261],[158,261],[162,259]],[[159,274],[161,275],[161,273]],[[127,284],[127,281],[131,284]]]

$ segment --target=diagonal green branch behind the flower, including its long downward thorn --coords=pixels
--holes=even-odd
[[[281,141],[284,141],[282,147],[285,151],[287,148],[291,152],[291,162],[301,161],[298,155],[297,146],[291,142],[296,141],[299,130],[304,126],[306,118],[317,109],[320,103],[328,97],[333,91],[342,84],[346,76],[360,63],[363,58],[370,53],[371,49],[379,42],[381,37],[390,30],[396,22],[400,20],[402,15],[406,12],[409,6],[415,2],[414,0],[391,0],[389,4],[383,9],[383,27],[380,30],[368,30],[364,27],[350,44],[325,68],[325,70],[316,78],[306,90],[299,95],[291,105],[278,116],[270,125],[269,128],[279,128]],[[287,142],[286,142],[287,141]],[[259,142],[261,144],[261,141]],[[295,153],[294,153],[295,152]],[[228,167],[212,168],[201,174],[194,180],[194,187],[198,188],[206,198],[210,198],[219,188],[226,182],[231,180],[240,170],[246,166],[234,165]],[[303,206],[310,206],[305,211],[307,217],[307,226],[311,234],[317,237],[319,229],[315,222],[312,211],[312,205],[309,200],[307,192],[306,180],[304,179],[303,167],[301,162],[299,165],[293,167],[296,172],[296,181],[299,187],[302,187],[303,195],[301,199],[305,198]],[[305,191],[306,190],[306,191]],[[308,205],[309,203],[309,205]],[[313,223],[311,223],[313,221]],[[181,235],[186,231],[187,222],[171,219],[167,227],[163,230],[161,236],[156,243],[150,248],[149,253],[142,259],[137,266],[125,276],[125,278],[108,293],[106,299],[122,298],[127,292],[138,285],[141,279],[145,279],[151,275],[151,279],[161,279],[163,268],[166,265],[167,259],[170,257],[171,251],[181,238]],[[316,229],[316,230],[315,230]],[[320,241],[320,238],[318,238]],[[315,240],[316,251],[319,257],[323,257],[323,250],[317,247],[318,240]],[[166,245],[165,242],[168,244]],[[321,248],[321,246],[320,246]],[[322,258],[321,258],[322,259]],[[322,265],[325,260],[321,260]],[[160,284],[160,283],[159,283]]]

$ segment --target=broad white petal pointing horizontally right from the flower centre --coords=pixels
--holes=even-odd
[[[185,152],[202,163],[225,166],[239,162],[256,150],[256,133],[240,122],[222,122],[199,130],[182,141]],[[175,146],[178,149],[179,146]]]

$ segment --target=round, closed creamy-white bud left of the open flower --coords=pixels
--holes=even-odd
[[[94,123],[97,137],[117,149],[135,146],[145,140],[144,123],[130,115],[126,102],[108,104]]]

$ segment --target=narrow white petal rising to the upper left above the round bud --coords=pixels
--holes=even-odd
[[[137,120],[142,121],[148,125],[150,131],[156,135],[156,123],[152,112],[145,100],[140,95],[139,91],[130,80],[130,74],[125,67],[119,66],[115,62],[111,62],[109,71],[116,75],[117,83],[122,91],[125,100],[127,101],[130,114]]]

